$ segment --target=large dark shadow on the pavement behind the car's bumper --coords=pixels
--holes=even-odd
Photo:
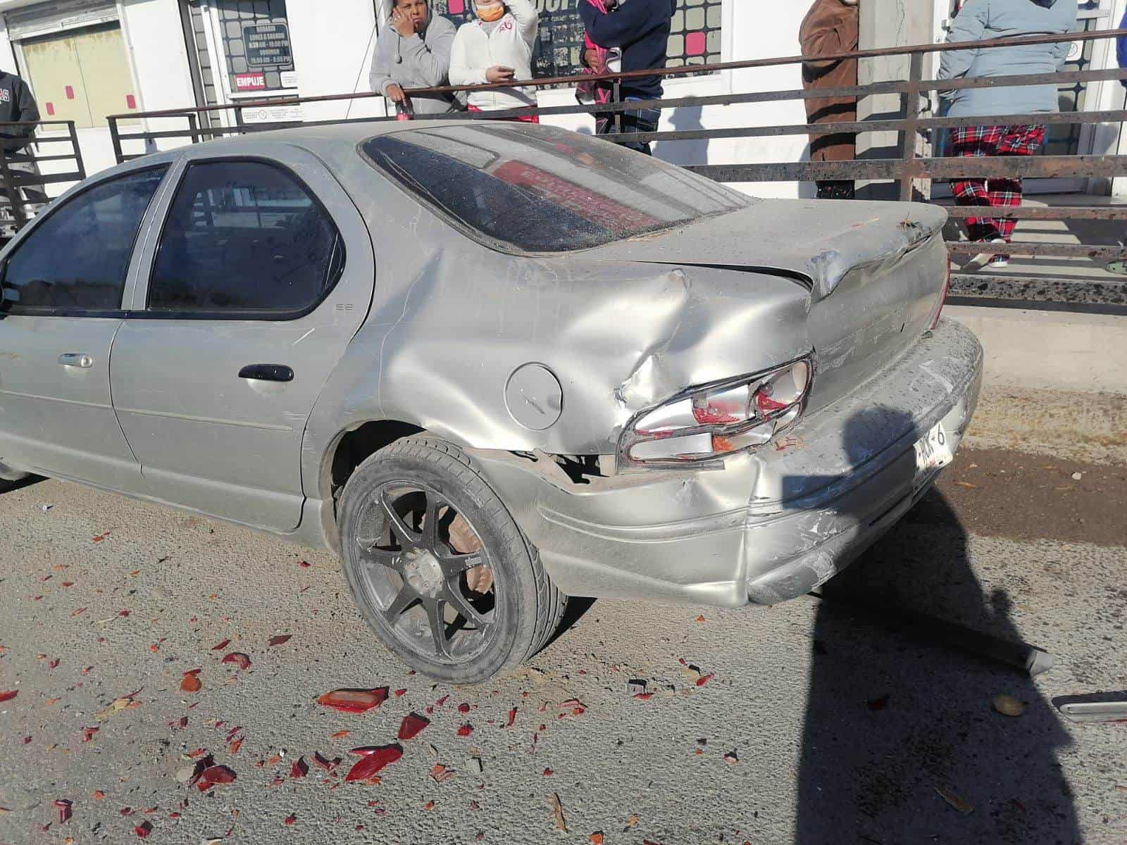
[[[870,422],[846,426],[854,464],[869,456]],[[1057,760],[1070,738],[1028,675],[898,628],[907,611],[1020,643],[1006,593],[984,595],[974,563],[966,532],[932,489],[823,586],[798,845],[1080,842]],[[1022,715],[995,712],[999,694],[1021,701]]]

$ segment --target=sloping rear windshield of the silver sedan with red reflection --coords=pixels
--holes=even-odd
[[[589,249],[749,204],[718,183],[552,126],[408,130],[362,149],[471,234],[512,251]]]

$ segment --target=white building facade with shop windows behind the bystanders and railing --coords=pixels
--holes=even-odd
[[[536,0],[541,30],[534,55],[539,77],[576,72],[582,0]],[[629,1],[629,0],[628,0]],[[932,37],[942,41],[952,12],[934,2]],[[472,14],[470,0],[433,0],[437,14],[462,21]],[[894,0],[861,0],[894,3]],[[678,0],[669,39],[674,66],[718,61],[795,55],[799,25],[809,0],[763,3],[752,0]],[[0,0],[0,68],[23,75],[32,86],[44,119],[74,121],[88,172],[114,162],[106,115],[237,105],[263,100],[367,90],[367,70],[380,27],[387,25],[391,0]],[[1112,28],[1127,0],[1085,0],[1082,29]],[[880,35],[870,37],[882,37]],[[890,36],[891,37],[891,36]],[[862,46],[888,46],[880,43]],[[1113,66],[1109,42],[1076,44],[1071,68]],[[710,96],[801,87],[798,65],[722,71],[666,83],[667,97]],[[544,89],[542,106],[571,105],[570,89]],[[1063,108],[1121,108],[1118,82],[1062,89]],[[379,98],[265,106],[216,112],[201,121],[232,125],[278,119],[322,121],[383,116]],[[588,128],[587,116],[552,122]],[[125,122],[123,130],[184,128],[186,118]],[[722,128],[805,123],[798,100],[677,108],[663,115],[663,130]],[[1115,152],[1121,130],[1116,126],[1055,128],[1050,153]],[[175,140],[157,142],[161,148]],[[664,142],[657,154],[675,163],[799,161],[805,136]],[[144,152],[142,142],[126,142],[126,152]],[[50,164],[44,169],[50,169]],[[796,196],[793,184],[748,185],[763,196]],[[1106,193],[1095,183],[1045,184],[1041,189]]]

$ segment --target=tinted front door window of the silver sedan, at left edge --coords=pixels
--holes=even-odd
[[[167,170],[99,183],[48,211],[8,258],[6,308],[36,314],[121,310],[133,244]]]

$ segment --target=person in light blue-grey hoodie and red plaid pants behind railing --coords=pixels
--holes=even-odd
[[[1023,35],[1064,35],[1076,26],[1076,0],[967,0],[955,18],[948,44]],[[1068,56],[1068,42],[943,53],[939,79],[1057,73]],[[949,117],[1049,114],[1057,110],[1054,84],[1019,88],[966,88],[940,92]],[[951,131],[953,155],[1033,155],[1045,141],[1045,126],[965,126]],[[959,205],[1021,205],[1021,179],[958,179],[951,183]],[[1009,243],[1015,222],[991,217],[967,220],[971,240]],[[968,267],[1005,267],[1009,256],[984,252]]]

